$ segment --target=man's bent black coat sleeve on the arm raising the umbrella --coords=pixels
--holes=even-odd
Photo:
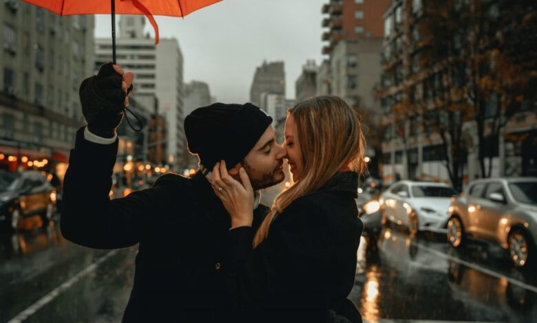
[[[76,133],[64,178],[61,231],[67,240],[99,249],[129,247],[149,230],[150,214],[167,200],[159,186],[109,199],[118,141],[96,144]],[[153,222],[155,222],[153,220]]]

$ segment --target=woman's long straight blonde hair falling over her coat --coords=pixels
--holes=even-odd
[[[304,174],[296,183],[277,195],[271,211],[253,238],[257,247],[268,236],[276,214],[295,199],[321,188],[341,169],[364,172],[366,141],[359,113],[336,96],[318,96],[300,102],[287,111],[295,121],[295,145],[302,153]]]

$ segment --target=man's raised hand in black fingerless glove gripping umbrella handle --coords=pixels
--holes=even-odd
[[[98,74],[83,80],[80,87],[82,113],[90,132],[112,138],[125,115],[132,93],[132,73],[112,63],[101,65]]]

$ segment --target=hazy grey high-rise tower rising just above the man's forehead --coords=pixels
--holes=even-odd
[[[260,107],[263,92],[280,94],[285,97],[284,62],[266,63],[265,61],[255,69],[250,88],[250,102]]]

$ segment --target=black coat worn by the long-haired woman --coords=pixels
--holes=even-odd
[[[235,306],[251,322],[324,322],[330,310],[361,321],[347,299],[364,228],[356,197],[357,174],[339,172],[278,214],[257,248],[251,228],[229,232],[224,271]]]

